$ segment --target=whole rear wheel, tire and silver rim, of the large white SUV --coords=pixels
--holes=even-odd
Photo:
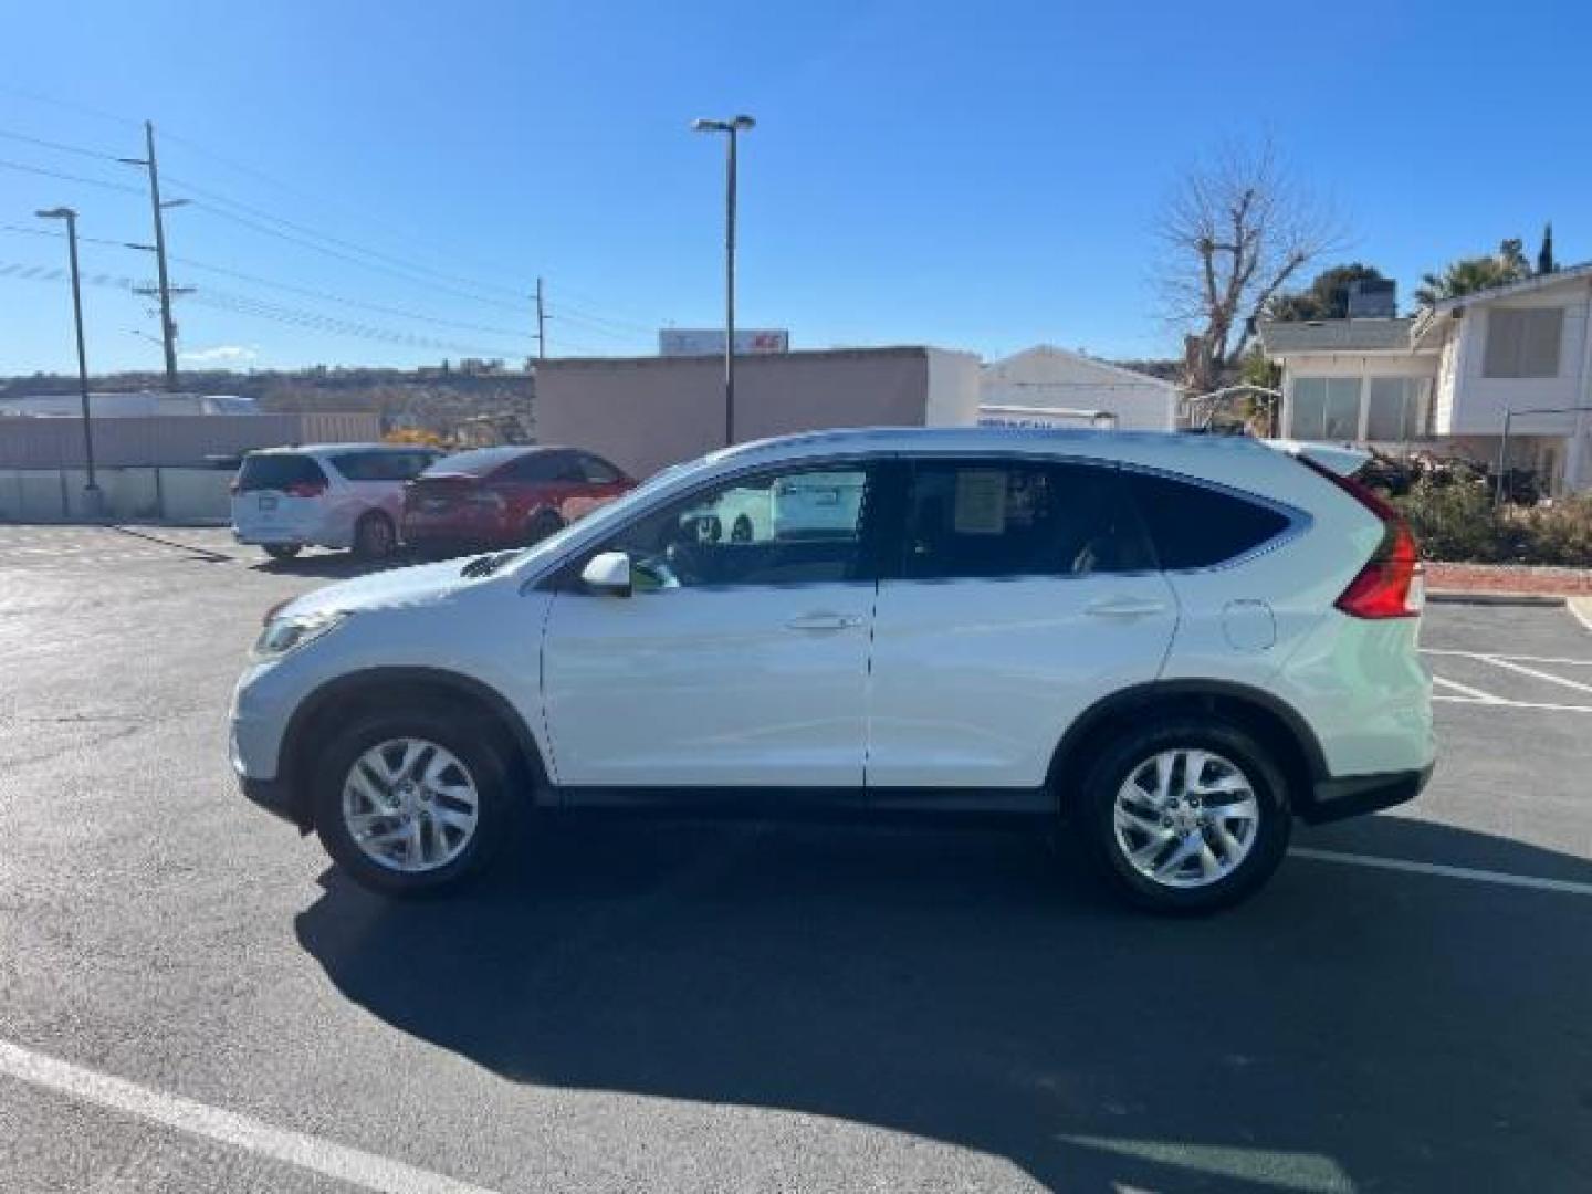
[[[1215,720],[1129,731],[1089,767],[1081,801],[1095,869],[1154,912],[1210,912],[1253,895],[1293,828],[1270,753]]]

